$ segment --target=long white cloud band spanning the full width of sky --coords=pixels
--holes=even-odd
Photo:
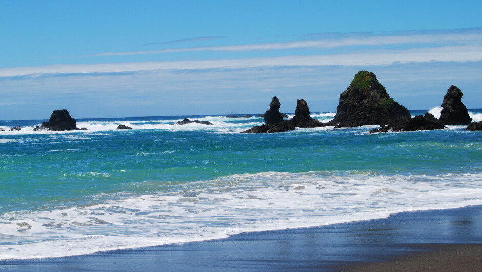
[[[376,66],[394,63],[421,62],[474,62],[482,61],[482,47],[457,45],[410,49],[362,50],[344,54],[289,55],[279,57],[253,57],[244,59],[197,60],[173,62],[130,62],[103,64],[71,64],[0,69],[0,77],[28,74],[57,73],[113,73],[126,71],[151,71],[168,69],[254,68],[274,66]]]

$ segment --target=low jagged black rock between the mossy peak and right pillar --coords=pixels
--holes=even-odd
[[[440,123],[440,121],[438,121],[435,116],[426,112],[425,116],[418,115],[414,118],[400,118],[396,120],[390,120],[387,125],[383,125],[379,129],[370,130],[370,134],[377,132],[386,133],[435,129],[444,129],[444,125]]]

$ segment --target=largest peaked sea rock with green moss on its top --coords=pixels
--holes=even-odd
[[[388,95],[375,74],[359,71],[347,90],[340,94],[336,115],[327,125],[335,127],[385,125],[389,120],[410,117],[408,109]]]

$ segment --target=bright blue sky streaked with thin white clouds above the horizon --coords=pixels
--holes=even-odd
[[[0,1],[0,120],[336,111],[368,70],[408,109],[482,108],[480,1]]]

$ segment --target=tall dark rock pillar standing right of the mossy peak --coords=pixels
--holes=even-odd
[[[468,125],[472,122],[467,108],[462,103],[462,96],[464,96],[462,91],[453,85],[447,90],[438,119],[444,125]]]

